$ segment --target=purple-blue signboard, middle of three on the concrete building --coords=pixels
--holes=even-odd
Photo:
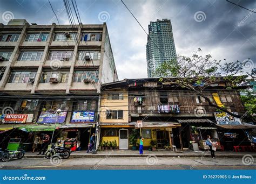
[[[37,123],[64,123],[67,112],[60,112],[60,114],[52,113],[50,111],[42,111]],[[58,119],[57,119],[58,118]]]

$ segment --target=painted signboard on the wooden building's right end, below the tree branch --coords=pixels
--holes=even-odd
[[[237,114],[237,112],[233,112],[233,114]],[[238,125],[241,124],[241,120],[239,118],[233,117],[226,112],[214,112],[214,116],[217,124],[219,125]]]

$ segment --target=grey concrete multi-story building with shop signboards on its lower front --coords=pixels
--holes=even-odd
[[[77,137],[82,147],[98,120],[100,84],[118,80],[105,23],[0,24],[0,69],[0,130],[42,137],[57,123],[55,141]]]

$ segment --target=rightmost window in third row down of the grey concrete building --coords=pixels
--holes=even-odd
[[[98,70],[92,70],[92,71],[75,71],[73,82],[83,82],[84,79],[90,79],[95,82],[98,82]]]

